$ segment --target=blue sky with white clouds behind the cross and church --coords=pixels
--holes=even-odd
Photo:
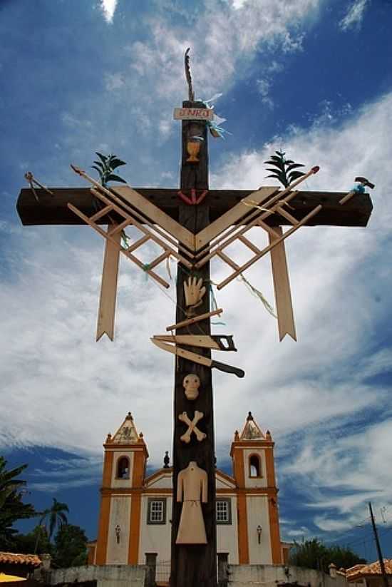
[[[0,449],[29,463],[37,508],[66,501],[96,536],[101,444],[128,410],[160,466],[172,361],[148,339],[175,308],[173,288],[164,296],[122,262],[115,342],[94,342],[103,243],[85,227],[22,228],[24,173],[83,185],[69,163],[88,168],[101,150],[128,162],[130,185],[177,186],[172,108],[187,95],[190,46],[196,96],[222,93],[215,110],[232,133],[210,140],[212,188],[269,185],[263,161],[277,148],[320,165],[307,190],[376,183],[368,228],[287,240],[298,342],[278,342],[241,282],[218,292],[217,331],[235,335],[247,372],[215,375],[218,462],[228,470],[251,409],[277,443],[282,536],[374,560],[371,500],[392,556],[391,26],[388,0],[0,1]],[[274,302],[267,259],[246,276]]]

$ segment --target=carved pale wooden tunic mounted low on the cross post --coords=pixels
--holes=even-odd
[[[178,474],[177,501],[183,504],[176,544],[207,544],[200,503],[207,503],[207,473],[195,461]]]

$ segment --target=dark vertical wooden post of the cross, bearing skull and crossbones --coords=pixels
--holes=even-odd
[[[200,103],[185,101],[183,107],[201,108]],[[199,163],[189,163],[187,158],[187,142],[190,136],[200,136],[200,152],[197,155]],[[208,189],[208,151],[207,151],[207,127],[203,121],[182,121],[182,163],[181,163],[181,190],[186,195],[190,190]],[[187,205],[179,201],[180,224],[197,233],[210,223],[209,196],[200,205]],[[185,319],[185,293],[183,283],[190,275],[187,267],[180,263],[177,265],[177,314],[176,322]],[[202,305],[197,308],[198,314],[210,311],[210,263],[206,263],[197,275],[202,277],[207,292],[202,300]],[[197,322],[195,325],[177,330],[177,334],[210,334],[210,319]],[[199,354],[210,357],[208,349],[191,349]],[[200,394],[194,402],[190,402],[184,393],[182,382],[187,374],[195,373],[200,377]],[[178,419],[178,415],[187,412],[192,419],[195,410],[203,412],[204,417],[197,425],[207,437],[198,442],[195,436],[189,444],[180,440],[185,432],[184,424]],[[202,504],[202,513],[205,521],[207,544],[202,545],[177,545],[178,526],[182,504],[177,503],[176,489],[178,473],[185,469],[190,461],[196,461],[201,469],[208,475],[208,501]],[[214,437],[214,413],[212,397],[211,369],[195,364],[186,359],[177,357],[175,362],[175,399],[174,399],[174,439],[173,439],[173,508],[172,508],[172,561],[171,561],[171,587],[216,587],[217,584],[217,544],[215,524],[215,437]]]

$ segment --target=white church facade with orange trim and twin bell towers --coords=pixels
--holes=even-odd
[[[144,564],[145,553],[170,560],[172,469],[146,476],[148,450],[128,412],[104,447],[98,538],[90,543],[90,564]],[[249,412],[235,432],[232,474],[216,469],[217,552],[232,564],[279,564],[287,545],[279,534],[274,442]]]

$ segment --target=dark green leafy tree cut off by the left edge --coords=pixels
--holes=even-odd
[[[7,471],[6,464],[6,459],[0,456],[0,550],[12,546],[12,538],[16,534],[14,522],[37,515],[31,504],[22,501],[22,488],[26,481],[16,479],[27,465]]]

